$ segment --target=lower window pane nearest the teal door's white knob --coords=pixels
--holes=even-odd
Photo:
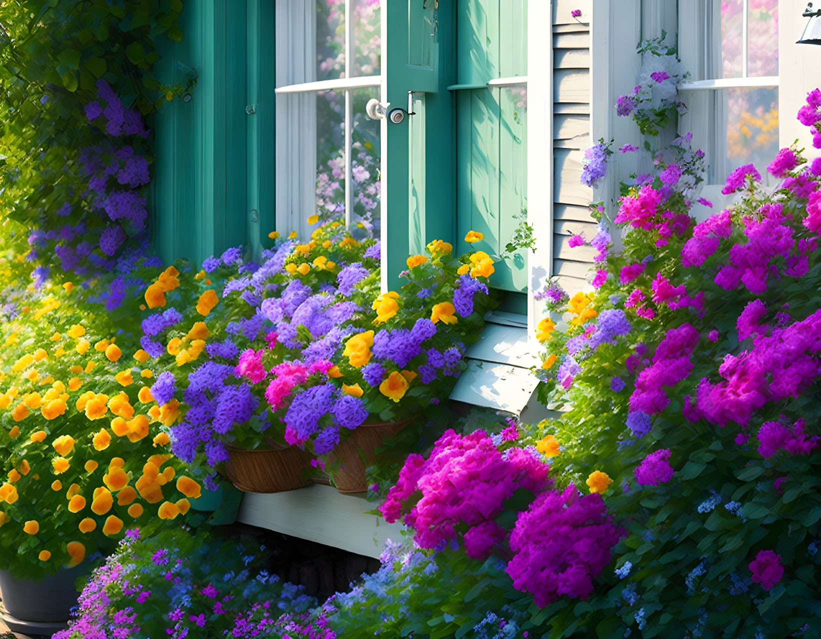
[[[378,120],[365,115],[365,104],[379,97],[379,90],[359,89],[352,92],[354,122],[351,134],[351,232],[355,237],[379,234],[379,196],[382,182],[379,175]]]

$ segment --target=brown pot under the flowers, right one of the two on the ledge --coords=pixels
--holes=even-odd
[[[328,454],[328,466],[338,462],[340,468],[331,473],[331,479],[342,494],[366,493],[365,468],[376,461],[374,450],[382,446],[413,420],[392,424],[362,424],[351,430],[346,439]],[[360,457],[361,453],[361,457]],[[365,457],[365,463],[362,458]]]

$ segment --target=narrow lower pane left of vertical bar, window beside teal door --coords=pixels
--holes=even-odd
[[[345,215],[345,92],[316,97],[316,213],[323,221]]]

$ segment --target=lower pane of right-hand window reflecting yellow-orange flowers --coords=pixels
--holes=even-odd
[[[726,99],[727,153],[724,166],[717,166],[723,170],[711,182],[723,182],[733,169],[750,162],[764,177],[764,168],[778,152],[778,90],[728,89],[718,97]]]

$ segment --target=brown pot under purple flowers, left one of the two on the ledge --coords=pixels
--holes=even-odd
[[[228,479],[246,493],[283,493],[311,483],[311,457],[297,446],[256,450],[226,448]]]

